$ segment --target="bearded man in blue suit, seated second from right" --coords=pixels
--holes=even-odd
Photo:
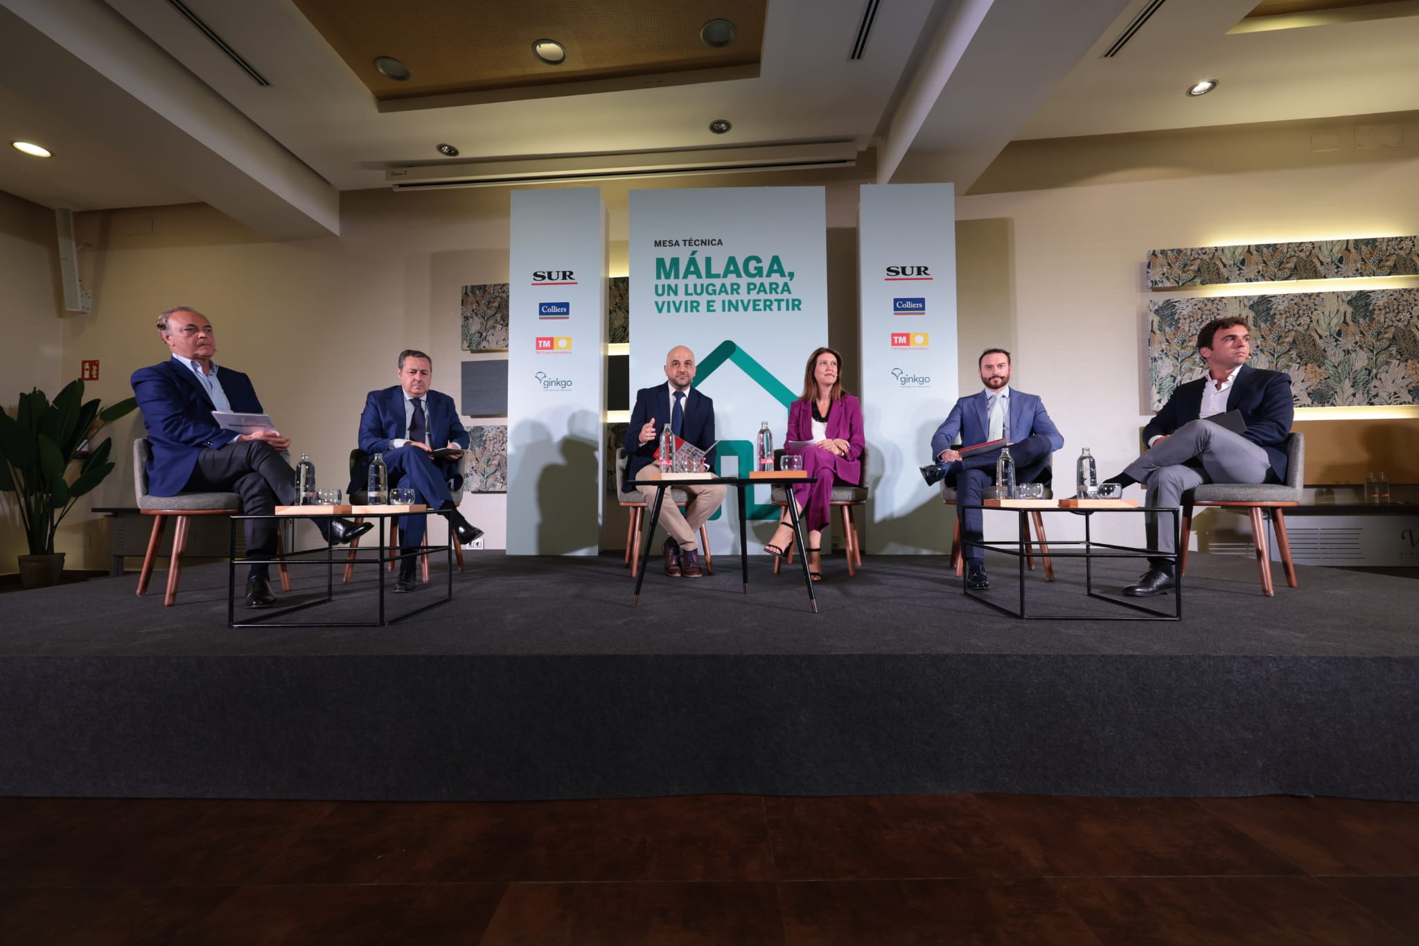
[[[1016,482],[1036,482],[1049,468],[1054,451],[1064,448],[1064,437],[1044,410],[1044,401],[1010,387],[1009,352],[986,349],[976,365],[985,390],[955,403],[931,437],[935,462],[922,467],[921,475],[928,486],[938,479],[955,485],[961,539],[965,545],[966,586],[983,591],[990,587],[985,576],[985,550],[971,545],[982,539],[981,511],[965,506],[979,506],[985,488],[995,482],[995,461],[1000,457],[1002,445],[1010,447]],[[968,447],[988,441],[1002,443],[962,457],[961,451],[951,447],[956,434]]]

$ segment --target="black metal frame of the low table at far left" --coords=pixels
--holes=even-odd
[[[412,515],[407,512],[362,512],[363,519],[377,519],[379,521],[379,546],[359,546],[358,549],[341,549],[341,557],[336,557],[336,547],[333,543],[326,542],[325,546],[315,549],[301,549],[297,552],[287,552],[280,559],[253,559],[237,557],[237,521],[245,519],[275,519],[280,528],[282,521],[298,521],[298,519],[333,519],[335,513],[311,516],[311,515],[291,515],[291,513],[272,513],[267,516],[231,516],[231,545],[230,555],[227,559],[227,627],[389,627],[390,624],[397,624],[407,617],[413,617],[420,611],[427,611],[431,607],[438,607],[453,600],[453,545],[444,543],[441,546],[446,556],[446,570],[448,573],[448,584],[441,599],[421,604],[412,611],[406,611],[396,618],[385,617],[385,573],[386,566],[390,562],[399,562],[403,559],[417,557],[420,555],[437,553],[440,546],[421,545],[410,552],[402,552],[399,546],[385,545],[385,523],[393,516]],[[419,515],[419,513],[413,513]],[[315,556],[321,552],[325,553],[324,559],[305,557]],[[355,562],[362,564],[375,563],[379,566],[379,620],[376,621],[278,621],[284,614],[292,614],[295,611],[302,611],[308,607],[315,607],[316,604],[329,604],[335,600],[335,566],[349,564],[350,552],[377,552],[379,555],[373,559],[360,559],[356,555]],[[297,560],[299,559],[299,560]],[[237,621],[237,566],[238,564],[325,564],[326,579],[325,579],[325,597],[316,599],[314,601],[302,601],[301,604],[292,604],[289,607],[277,608],[274,611],[261,611],[260,618],[251,618],[247,621]],[[417,579],[416,579],[417,580]]]

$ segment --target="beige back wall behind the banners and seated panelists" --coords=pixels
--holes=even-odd
[[[1047,166],[1049,155],[1040,160]],[[851,379],[858,180],[823,172],[634,187],[817,183],[829,187],[830,342],[844,350]],[[624,268],[631,186],[602,189],[613,272]],[[95,312],[62,321],[64,363],[102,357],[94,393],[105,401],[123,397],[132,369],[167,353],[152,329],[155,313],[194,305],[217,329],[217,360],[253,376],[295,448],[316,460],[322,484],[343,485],[365,393],[393,383],[400,347],[429,350],[436,386],[457,393],[458,363],[473,357],[458,350],[458,286],[507,279],[508,191],[356,191],[345,194],[342,218],[339,238],[270,244],[201,206],[81,216],[79,240],[95,247],[81,258]],[[1044,396],[1064,433],[1056,458],[1061,477],[1073,475],[1083,445],[1100,457],[1101,472],[1115,472],[1132,458],[1145,420],[1148,250],[1412,233],[1419,233],[1419,160],[1412,157],[961,197],[962,393],[975,390],[975,353],[1003,343],[1015,352],[1017,384]],[[41,258],[38,250],[30,254]],[[44,304],[53,313],[53,299]],[[24,367],[35,366],[26,360]],[[125,462],[94,505],[129,505],[131,496]],[[505,530],[518,528],[505,523],[502,496],[470,496],[464,512],[488,532],[488,547],[502,547]],[[614,505],[604,535],[607,547],[624,535]],[[102,564],[104,549],[87,557],[91,567]]]

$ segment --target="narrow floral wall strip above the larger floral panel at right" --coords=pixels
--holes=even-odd
[[[1148,286],[1355,279],[1419,274],[1419,237],[1191,247],[1148,252]]]

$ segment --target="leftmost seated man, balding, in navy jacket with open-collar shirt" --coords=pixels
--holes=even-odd
[[[295,502],[295,471],[281,455],[289,438],[274,430],[237,434],[221,428],[211,417],[220,410],[264,414],[251,379],[230,367],[217,367],[217,340],[211,322],[189,306],[167,309],[158,316],[158,333],[172,349],[172,357],[133,372],[132,386],[143,411],[152,458],[148,462],[148,491],[155,496],[180,492],[236,492],[247,515],[271,515],[278,505]],[[316,519],[321,535],[333,543],[369,532],[373,523],[346,519]],[[247,555],[270,559],[275,555],[274,519],[247,519]],[[247,573],[247,607],[270,607],[275,594],[267,580],[267,566],[253,564]]]

